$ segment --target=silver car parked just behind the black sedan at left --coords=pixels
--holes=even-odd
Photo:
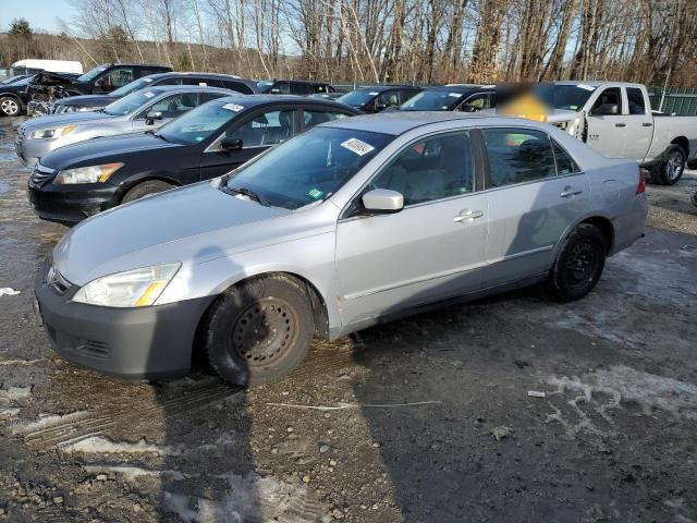
[[[158,85],[124,96],[99,111],[33,118],[17,129],[15,150],[22,161],[34,166],[44,155],[64,145],[156,130],[201,104],[231,93],[218,87]]]

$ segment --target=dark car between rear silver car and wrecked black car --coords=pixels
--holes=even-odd
[[[94,111],[95,109],[107,107],[112,101],[130,95],[131,93],[156,85],[205,85],[236,90],[243,95],[254,95],[255,93],[258,93],[256,82],[229,74],[158,73],[134,80],[123,87],[112,90],[108,95],[82,95],[60,98],[51,105],[48,112],[62,114],[64,112]]]

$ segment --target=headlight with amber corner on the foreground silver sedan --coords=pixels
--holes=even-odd
[[[164,264],[127,270],[90,281],[73,296],[73,302],[102,307],[145,307],[152,305],[181,264]]]

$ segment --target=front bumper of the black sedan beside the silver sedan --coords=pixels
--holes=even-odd
[[[53,174],[54,177],[54,174]],[[119,187],[105,183],[53,184],[52,178],[27,184],[29,205],[39,218],[72,226],[117,205]]]

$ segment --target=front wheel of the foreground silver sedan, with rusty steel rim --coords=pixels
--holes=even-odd
[[[224,381],[242,386],[291,373],[307,355],[315,333],[304,285],[283,275],[228,289],[205,321],[208,362]]]

